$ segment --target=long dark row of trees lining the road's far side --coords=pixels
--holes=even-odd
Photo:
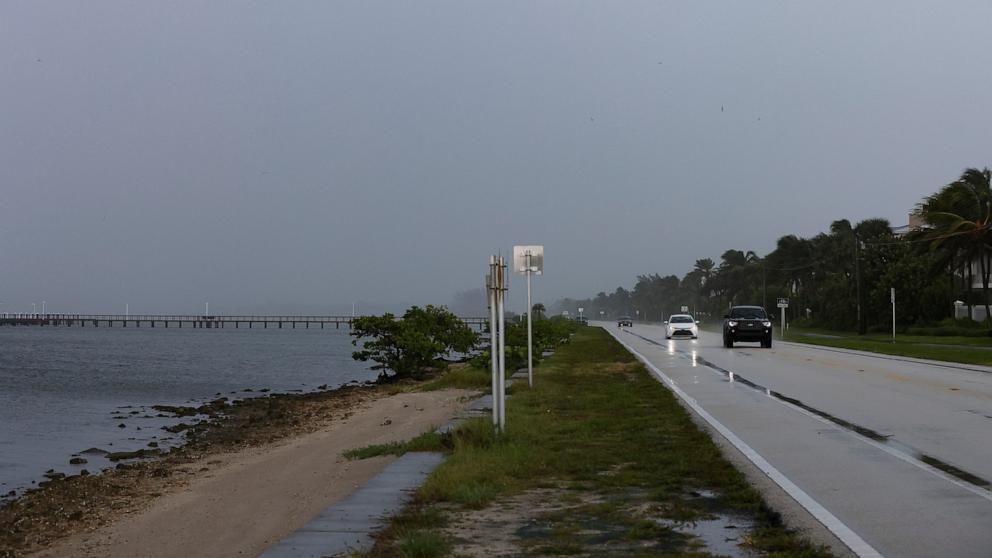
[[[890,289],[897,291],[902,326],[947,325],[955,301],[989,316],[992,282],[992,188],[988,168],[969,168],[915,208],[919,226],[896,234],[885,219],[840,219],[810,238],[786,235],[759,256],[729,249],[718,261],[696,260],[682,277],[639,275],[632,289],[617,287],[587,299],[563,298],[556,311],[584,309],[590,318],[661,321],[682,307],[718,319],[735,304],[777,313],[788,298],[793,323],[832,329],[891,327]],[[975,288],[975,285],[980,285]],[[985,319],[986,326],[988,318]],[[954,324],[952,324],[954,325]]]

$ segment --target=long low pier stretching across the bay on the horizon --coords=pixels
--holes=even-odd
[[[138,315],[138,314],[0,314],[0,326],[64,326],[64,327],[186,327],[206,329],[320,329],[342,325],[351,329],[356,316],[208,316],[208,315]],[[482,331],[487,318],[460,318],[466,325]]]

